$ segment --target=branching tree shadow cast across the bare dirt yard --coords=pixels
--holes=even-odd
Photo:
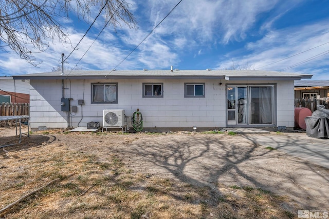
[[[159,138],[165,140],[158,141]],[[243,141],[239,136],[233,138],[234,141],[232,138],[222,140],[220,135],[161,136],[151,143],[136,141],[132,143],[132,147],[120,148],[120,153],[129,156],[133,160],[129,165],[139,168],[141,172],[173,177],[178,183],[187,183],[199,188],[212,188],[215,195],[209,203],[216,204],[218,199],[223,198],[219,189],[221,183],[269,189],[264,181],[259,181],[259,178],[251,174],[250,168],[244,168],[250,158],[262,156],[257,153],[258,145],[252,142],[246,144],[245,140],[239,142],[239,138]],[[266,167],[257,168],[266,172],[271,171]],[[174,198],[184,199],[177,196]],[[282,207],[293,209],[288,204]]]

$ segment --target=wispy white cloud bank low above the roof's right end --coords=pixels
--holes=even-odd
[[[248,68],[257,70],[312,74],[317,72],[316,69],[327,66],[329,61],[329,54],[326,54],[329,53],[328,21],[303,27],[272,30],[259,41],[249,43],[239,51],[231,51],[226,56],[239,65],[248,64]],[[230,61],[218,64],[220,69],[231,66]]]

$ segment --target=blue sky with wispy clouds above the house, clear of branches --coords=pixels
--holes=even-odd
[[[179,0],[127,2],[137,29],[122,25],[115,32],[107,27],[93,44],[104,25],[102,19],[97,20],[69,56],[66,69],[115,68]],[[91,19],[97,13],[95,10]],[[56,41],[50,44],[48,50],[34,55],[41,63],[38,67],[12,51],[1,51],[0,76],[49,72],[59,66],[61,54],[68,55],[89,27],[75,17],[59,22],[66,27],[72,46]],[[116,69],[170,66],[286,71],[329,80],[329,1],[183,0]]]

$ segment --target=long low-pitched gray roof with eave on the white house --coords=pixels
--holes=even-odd
[[[293,79],[312,78],[312,74],[256,70],[102,70],[102,71],[61,71],[13,75],[14,79],[157,79],[157,78],[199,78],[199,79]]]

